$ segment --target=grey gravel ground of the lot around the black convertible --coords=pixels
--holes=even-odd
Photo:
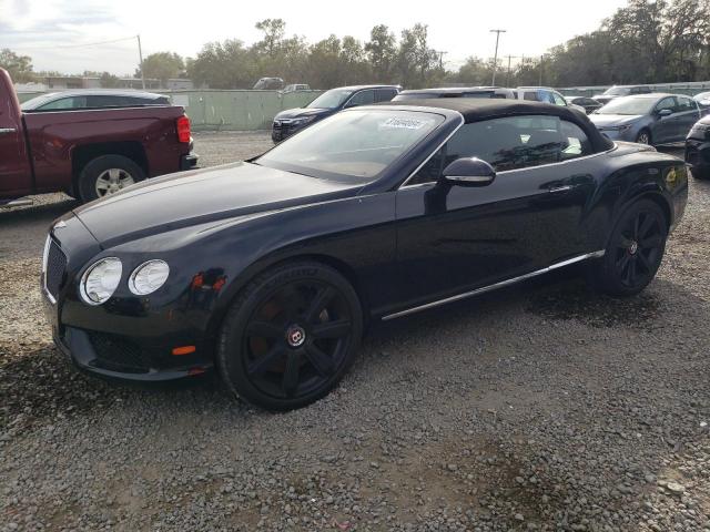
[[[202,165],[270,145],[195,135]],[[73,202],[40,202],[0,212],[2,532],[710,531],[710,183],[640,296],[558,274],[382,325],[285,415],[75,374],[37,289]]]

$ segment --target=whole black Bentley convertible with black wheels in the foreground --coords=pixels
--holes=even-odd
[[[568,108],[372,105],[67,214],[42,289],[57,345],[84,370],[216,368],[246,400],[291,409],[338,382],[368,321],[582,262],[599,289],[638,293],[687,191],[682,161],[615,144]]]

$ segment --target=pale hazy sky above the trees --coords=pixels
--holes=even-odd
[[[375,24],[385,23],[398,35],[422,22],[429,27],[432,47],[448,52],[445,60],[453,68],[468,55],[493,57],[493,28],[507,30],[500,35],[499,57],[539,55],[596,29],[625,4],[626,0],[0,0],[0,48],[31,55],[36,70],[125,74],[138,64],[135,40],[84,44],[140,33],[144,55],[174,51],[194,57],[209,41],[257,41],[254,23],[266,18],[284,19],[288,35],[310,42],[331,33],[364,42]]]

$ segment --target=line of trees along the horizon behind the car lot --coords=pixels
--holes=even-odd
[[[581,16],[581,13],[579,13]],[[570,17],[576,16],[574,12]],[[494,61],[469,57],[456,70],[446,70],[442,54],[429,42],[428,28],[417,23],[398,35],[377,24],[369,39],[335,34],[308,43],[286,35],[282,19],[256,23],[262,39],[246,45],[239,39],[210,42],[194,58],[173,52],[148,55],[145,78],[166,81],[190,78],[196,86],[250,89],[265,76],[314,89],[356,83],[396,83],[408,89],[450,83],[485,85]],[[670,83],[710,79],[710,0],[629,0],[599,29],[577,35],[538,58],[500,58],[497,84],[554,86],[620,83]],[[0,66],[17,81],[34,79],[31,58],[0,51]],[[87,74],[87,73],[84,73]],[[93,73],[104,86],[118,79]],[[141,65],[135,71],[140,76]]]

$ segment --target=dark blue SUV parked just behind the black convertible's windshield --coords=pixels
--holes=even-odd
[[[281,142],[294,133],[343,109],[388,102],[399,92],[397,85],[341,86],[324,92],[305,108],[288,109],[274,116],[271,139]]]

